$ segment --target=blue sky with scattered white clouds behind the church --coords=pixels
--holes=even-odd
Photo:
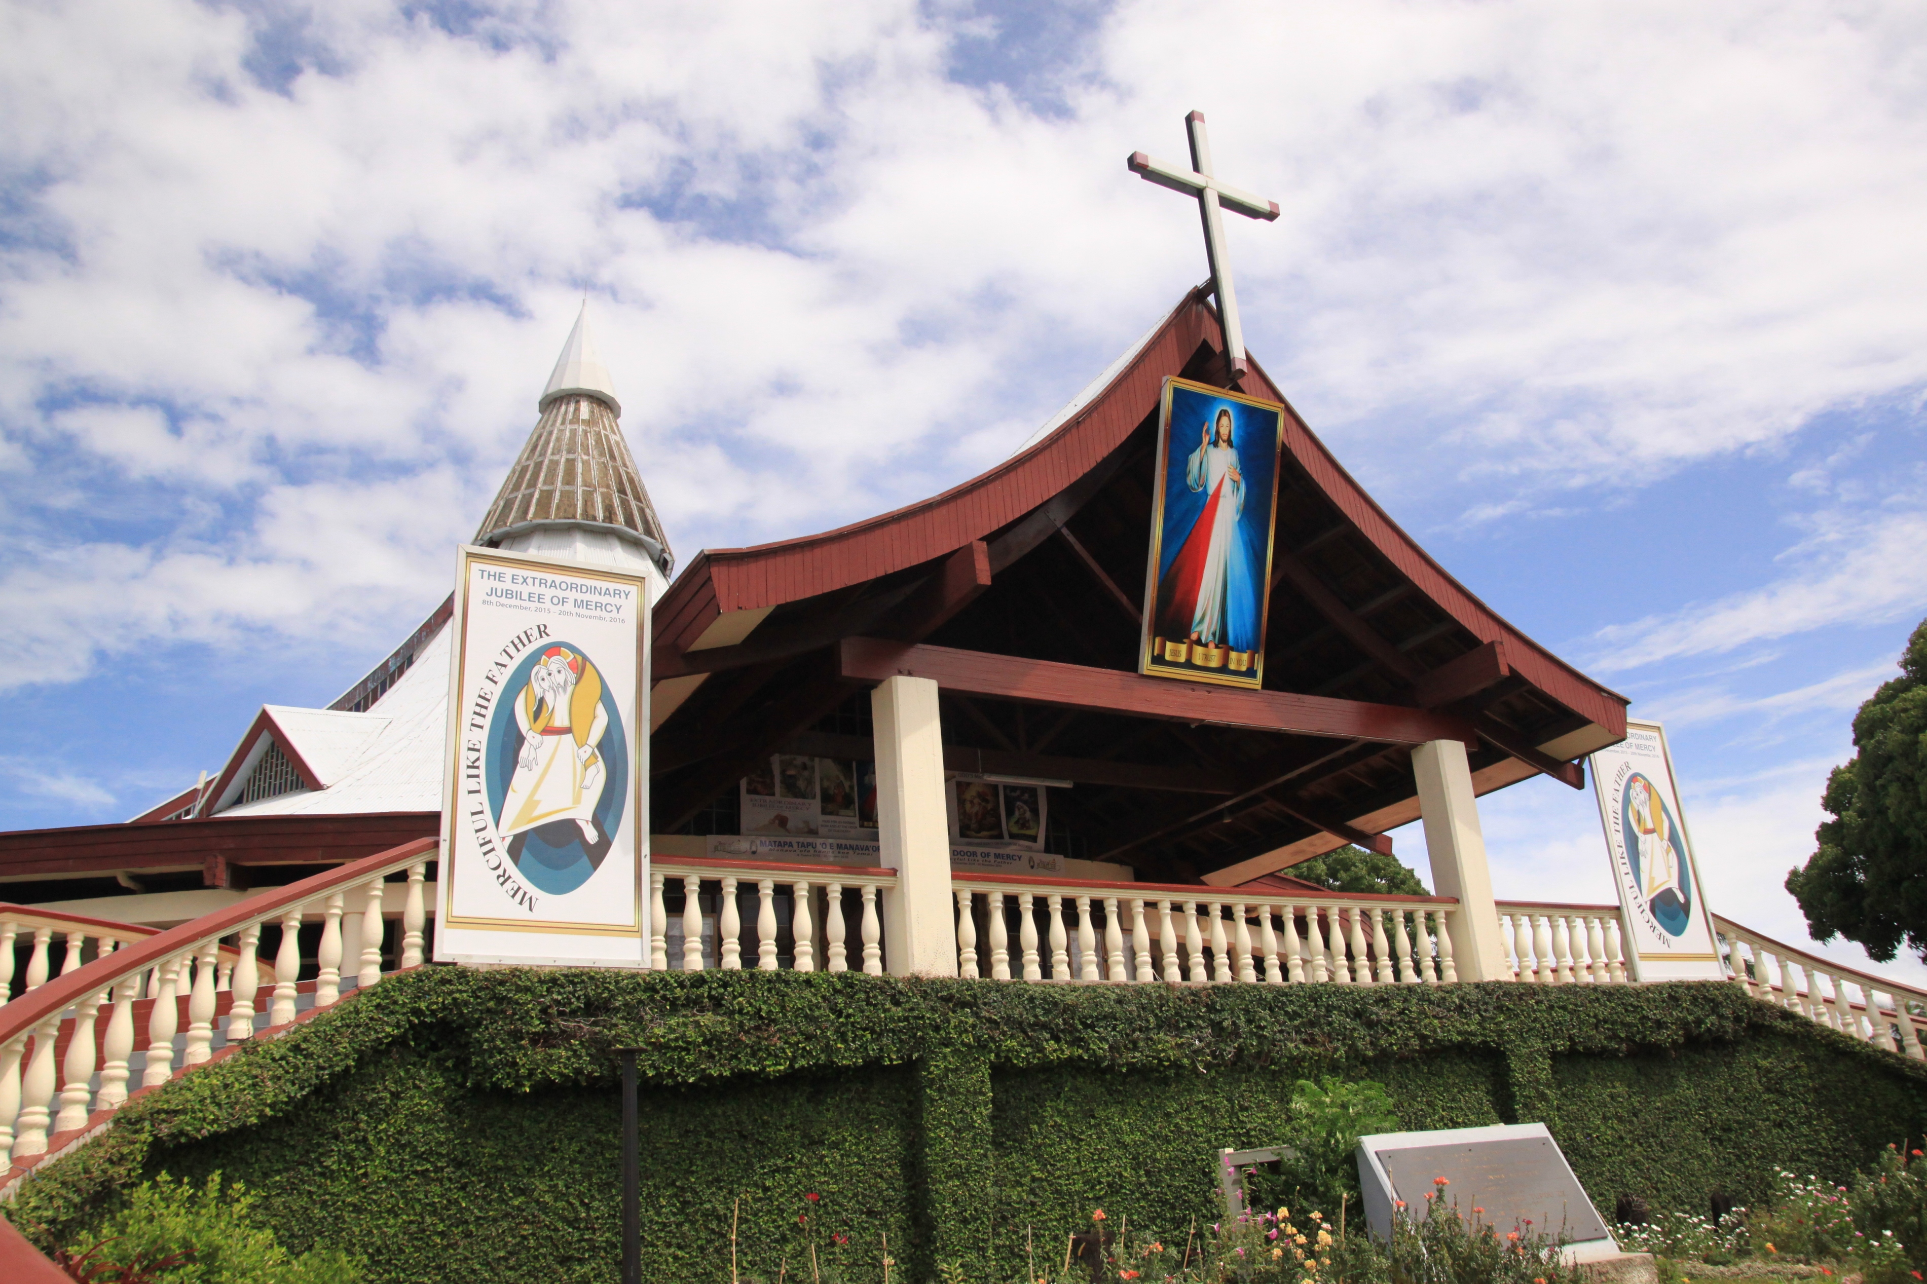
[[[682,559],[981,470],[1204,276],[1123,166],[1199,108],[1283,208],[1231,220],[1251,349],[1667,721],[1715,908],[1804,939],[1927,615],[1923,85],[1910,4],[10,6],[0,825],[405,636],[582,291]],[[1609,898],[1590,794],[1484,816],[1501,895]]]

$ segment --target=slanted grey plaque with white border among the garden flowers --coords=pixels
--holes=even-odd
[[[1438,1186],[1436,1178],[1445,1178]],[[1459,1217],[1505,1234],[1532,1222],[1532,1230],[1563,1236],[1569,1255],[1590,1259],[1617,1253],[1613,1232],[1572,1176],[1559,1143],[1544,1124],[1493,1128],[1445,1128],[1391,1132],[1359,1141],[1359,1184],[1364,1213],[1378,1236],[1391,1234],[1395,1201],[1405,1201],[1412,1220],[1426,1215],[1426,1193],[1438,1191]]]

